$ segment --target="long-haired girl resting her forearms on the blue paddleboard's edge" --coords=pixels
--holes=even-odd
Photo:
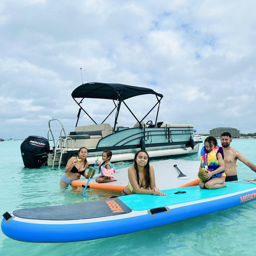
[[[135,154],[134,166],[128,168],[128,185],[122,190],[121,195],[153,194],[166,195],[155,186],[155,172],[149,165],[148,153],[140,150]]]

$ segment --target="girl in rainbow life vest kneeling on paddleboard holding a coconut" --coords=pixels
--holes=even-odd
[[[226,174],[224,171],[224,153],[223,148],[217,145],[217,140],[209,136],[204,141],[204,147],[201,150],[200,168],[207,169],[204,174],[206,182],[199,183],[201,189],[220,189],[226,187]]]

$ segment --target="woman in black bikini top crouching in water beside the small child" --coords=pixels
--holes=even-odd
[[[74,180],[80,179],[81,175],[86,176],[85,170],[89,165],[87,161],[88,150],[85,147],[82,147],[78,151],[78,157],[72,156],[67,161],[65,168],[65,173],[61,176],[60,185],[67,186],[71,185],[71,182]],[[77,187],[72,186],[73,189]]]

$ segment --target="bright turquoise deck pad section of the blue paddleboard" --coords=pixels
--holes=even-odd
[[[193,186],[179,189],[162,190],[162,192],[167,194],[162,196],[137,194],[121,196],[119,198],[121,198],[121,201],[124,202],[130,209],[141,211],[208,198],[210,200],[214,200],[212,198],[216,196],[227,195],[252,188],[256,189],[255,183],[227,182],[227,187],[222,189],[200,189],[199,186]],[[185,191],[186,193],[174,194],[178,191]]]

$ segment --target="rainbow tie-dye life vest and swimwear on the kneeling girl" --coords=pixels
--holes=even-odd
[[[222,158],[224,160],[224,152],[223,152],[223,148],[220,146],[216,146],[215,148],[213,148],[211,150],[211,152],[207,152],[207,150],[205,149],[205,147],[202,147],[201,150],[201,161],[202,161],[202,168],[207,168],[209,171],[214,171],[217,168],[219,168],[219,162],[217,160],[217,153],[221,153],[222,154]],[[223,170],[220,173],[217,173],[215,175],[212,175],[212,178],[224,178],[226,177],[225,171]]]

